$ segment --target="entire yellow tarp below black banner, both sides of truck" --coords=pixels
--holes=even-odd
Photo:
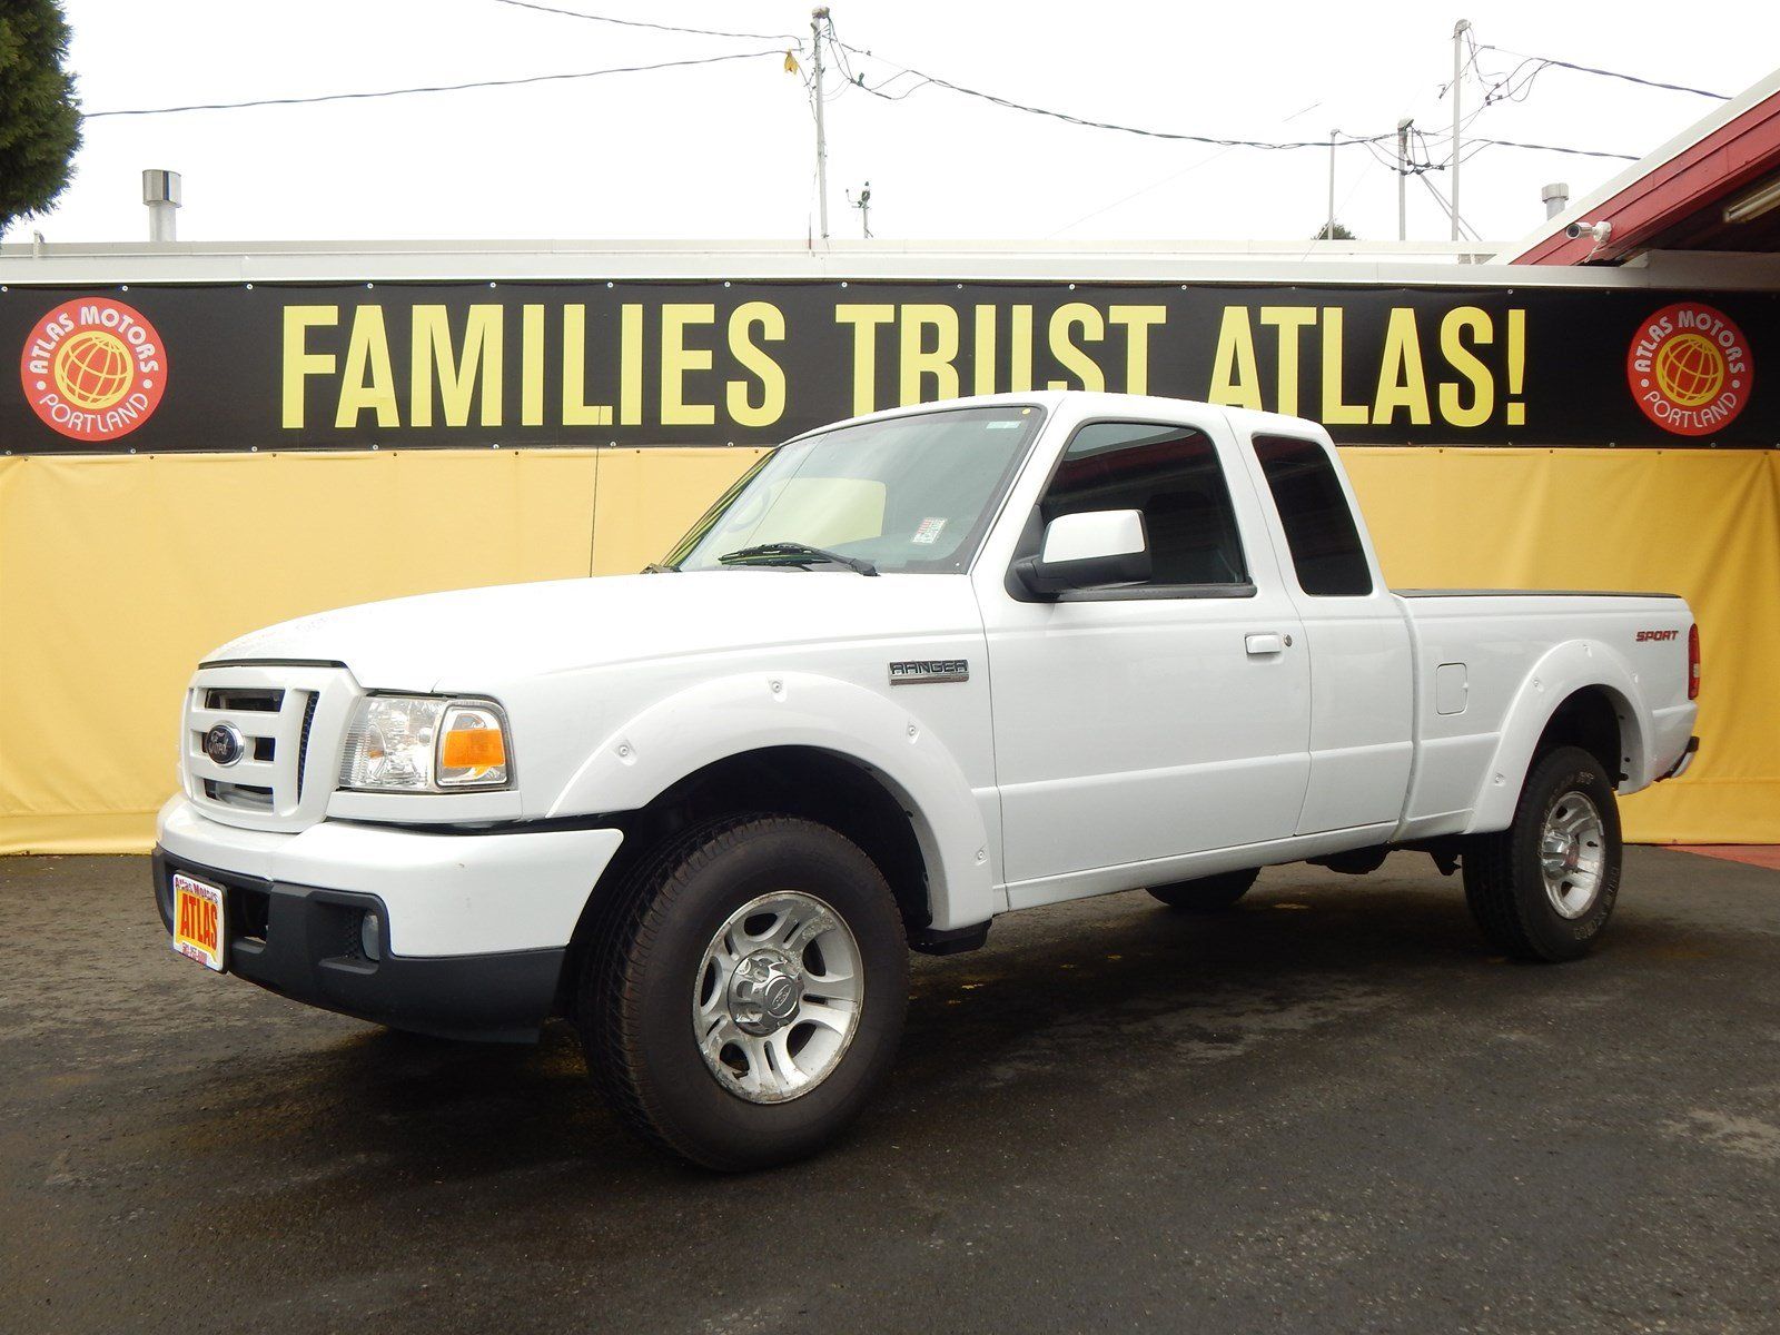
[[[1643,840],[1780,840],[1780,454],[1344,450],[1399,586],[1661,589],[1705,641],[1703,751]],[[126,853],[199,657],[408,593],[637,570],[756,450],[0,459],[0,853]]]

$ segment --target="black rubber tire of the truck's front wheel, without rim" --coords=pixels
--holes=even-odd
[[[806,1093],[758,1104],[726,1089],[694,1038],[705,949],[742,906],[821,899],[858,945],[851,1040]],[[785,815],[714,821],[668,840],[618,886],[589,942],[575,1025],[607,1102],[643,1139],[717,1171],[801,1159],[840,1132],[888,1075],[908,1011],[908,943],[883,872],[828,826]]]

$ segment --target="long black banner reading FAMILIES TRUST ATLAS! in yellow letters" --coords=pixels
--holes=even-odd
[[[0,294],[7,454],[771,443],[1045,388],[1337,441],[1780,441],[1773,294],[1120,283],[338,283]]]

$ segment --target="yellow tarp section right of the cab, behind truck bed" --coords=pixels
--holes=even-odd
[[[1700,758],[1627,797],[1648,844],[1780,842],[1780,452],[1342,450],[1385,580],[1679,593],[1705,664]]]

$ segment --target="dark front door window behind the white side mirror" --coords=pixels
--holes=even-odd
[[[1248,582],[1230,488],[1203,431],[1153,422],[1086,425],[1063,452],[1038,509],[1045,523],[1080,511],[1143,511],[1152,586]]]

